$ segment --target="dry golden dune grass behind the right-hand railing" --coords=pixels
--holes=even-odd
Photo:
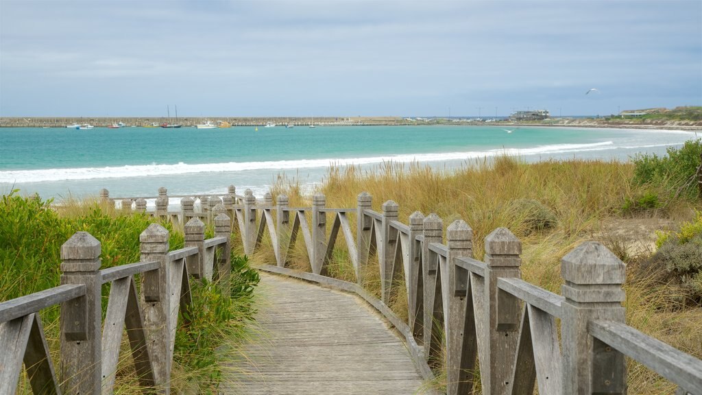
[[[509,228],[522,240],[522,278],[551,292],[560,293],[560,259],[581,242],[601,233],[607,221],[646,218],[691,219],[702,207],[699,200],[687,195],[670,196],[665,186],[632,182],[635,166],[631,163],[602,160],[544,161],[527,164],[515,157],[496,157],[466,164],[458,170],[430,169],[420,164],[384,163],[363,171],[359,167],[331,167],[317,190],[326,195],[326,207],[352,208],[357,195],[373,196],[373,209],[387,200],[399,204],[399,220],[408,223],[418,210],[438,214],[444,229],[456,219],[463,219],[473,230],[473,254],[482,259],[484,238],[498,227]],[[285,193],[291,207],[309,206],[309,197],[294,180],[279,179],[272,187],[274,196]],[[664,204],[631,209],[627,202],[647,194],[667,197]],[[538,214],[523,209],[518,201],[536,201],[555,216],[552,226],[538,227]],[[354,219],[352,219],[353,221]],[[329,220],[328,220],[329,221]],[[328,225],[329,226],[329,225]],[[655,229],[651,229],[654,235]],[[339,238],[342,240],[343,238]],[[624,285],[627,298],[627,323],[653,337],[702,358],[702,306],[676,303],[675,289],[661,283],[655,271],[635,268],[647,258],[628,253],[631,240],[624,234],[608,234],[600,240],[628,265]],[[644,243],[649,240],[644,240]],[[338,241],[338,252],[329,263],[329,275],[355,282],[355,274],[345,253],[345,243]],[[651,247],[651,252],[655,247]],[[256,254],[253,261],[274,261],[268,252]],[[371,257],[371,262],[377,259]],[[298,240],[289,256],[289,266],[309,270],[305,247]],[[647,273],[647,274],[646,274]],[[362,285],[379,296],[380,275],[377,263],[364,268]],[[390,307],[406,319],[404,285],[398,283]],[[675,386],[650,372],[639,363],[629,361],[630,394],[670,394]],[[435,386],[442,387],[442,377]]]

